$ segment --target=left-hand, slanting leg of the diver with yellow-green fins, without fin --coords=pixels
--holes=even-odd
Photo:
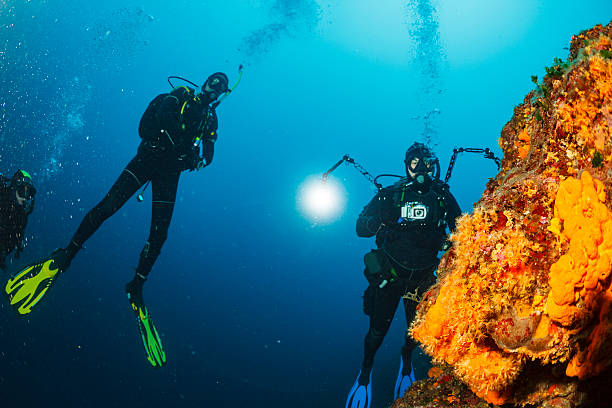
[[[92,208],[81,221],[81,225],[70,240],[70,244],[60,252],[58,259],[60,268],[65,270],[70,262],[102,223],[113,215],[125,202],[150,179],[145,159],[137,154],[123,169],[115,184],[106,196],[94,208]]]

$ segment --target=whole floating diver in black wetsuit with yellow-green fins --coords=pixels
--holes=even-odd
[[[143,185],[151,182],[151,230],[140,253],[135,276],[126,285],[126,292],[138,320],[149,362],[154,367],[165,364],[165,353],[144,305],[142,288],[166,240],[181,172],[199,170],[212,162],[217,140],[215,108],[220,102],[218,98],[229,92],[227,75],[217,72],[208,77],[200,93],[181,86],[158,95],[149,104],[140,121],[138,131],[142,141],[136,156],[104,199],[87,213],[70,243],[56,250],[49,259],[23,269],[8,282],[6,292],[11,305],[20,314],[31,311],[58,272],[68,268],[85,241],[102,223]],[[141,201],[141,195],[138,198]]]

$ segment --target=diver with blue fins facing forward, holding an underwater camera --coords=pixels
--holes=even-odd
[[[346,401],[346,408],[371,404],[374,355],[389,330],[400,299],[408,325],[417,302],[406,295],[425,292],[435,283],[438,251],[447,249],[447,227],[455,229],[461,210],[448,186],[439,180],[440,165],[422,143],[406,151],[406,174],[383,188],[363,209],[357,220],[357,235],[376,235],[378,249],[364,257],[369,286],[364,294],[364,312],[370,317],[365,337],[361,371]],[[416,342],[407,334],[402,348],[395,399],[414,381],[410,362]],[[412,374],[412,376],[411,376]]]

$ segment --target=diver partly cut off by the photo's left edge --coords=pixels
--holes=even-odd
[[[36,188],[32,176],[17,170],[8,179],[0,174],[0,269],[6,270],[6,257],[15,250],[19,258],[28,216],[34,211]]]

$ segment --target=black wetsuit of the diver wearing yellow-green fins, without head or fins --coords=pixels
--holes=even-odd
[[[68,262],[107,218],[150,181],[153,189],[151,230],[136,269],[146,277],[166,241],[180,174],[212,162],[216,132],[214,109],[196,97],[193,89],[180,87],[170,94],[158,95],[141,120],[142,142],[136,156],[104,199],[81,222],[67,247]],[[202,145],[202,158],[198,140]]]

